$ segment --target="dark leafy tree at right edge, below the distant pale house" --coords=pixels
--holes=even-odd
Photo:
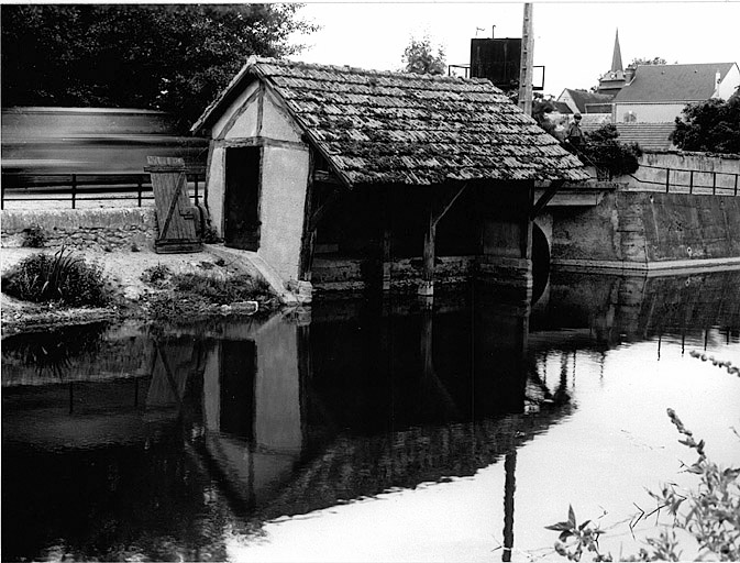
[[[740,89],[729,100],[686,106],[671,139],[678,148],[740,154]]]

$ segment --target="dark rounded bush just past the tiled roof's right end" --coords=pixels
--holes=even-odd
[[[637,143],[621,143],[618,139],[617,126],[607,123],[586,133],[586,142],[581,146],[578,156],[584,164],[596,166],[609,178],[632,174],[640,167],[638,158],[642,150]]]

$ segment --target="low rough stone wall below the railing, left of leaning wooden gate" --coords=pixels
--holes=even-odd
[[[154,208],[3,210],[2,246],[23,246],[33,225],[43,229],[46,247],[151,249],[157,235]]]

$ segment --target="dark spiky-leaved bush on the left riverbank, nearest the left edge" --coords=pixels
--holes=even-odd
[[[103,306],[110,301],[102,268],[59,250],[21,261],[4,278],[3,292],[25,301],[55,301],[65,306]]]

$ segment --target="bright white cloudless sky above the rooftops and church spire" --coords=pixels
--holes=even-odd
[[[429,35],[448,64],[468,64],[471,38],[521,37],[521,2],[311,2],[301,15],[322,29],[296,60],[399,70],[410,38]],[[495,30],[494,26],[495,25]],[[740,0],[725,2],[533,3],[534,65],[544,91],[588,89],[609,70],[619,30],[622,63],[662,57],[669,64],[740,64]]]

